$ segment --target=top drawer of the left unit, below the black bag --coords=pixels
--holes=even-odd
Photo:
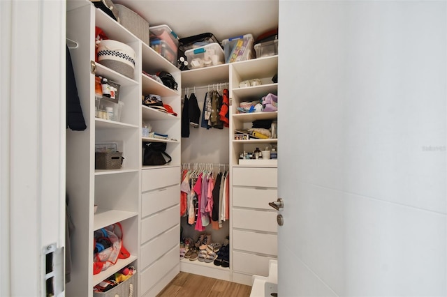
[[[142,170],[141,190],[149,190],[168,187],[180,183],[179,167],[166,167]]]

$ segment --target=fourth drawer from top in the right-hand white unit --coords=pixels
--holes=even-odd
[[[278,254],[278,236],[255,231],[233,230],[233,248],[260,254]]]

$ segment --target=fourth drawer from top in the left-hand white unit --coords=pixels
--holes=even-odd
[[[152,264],[153,261],[159,259],[162,254],[170,250],[175,245],[179,246],[180,227],[177,225],[173,229],[166,231],[152,241],[141,246],[141,269],[145,269]]]

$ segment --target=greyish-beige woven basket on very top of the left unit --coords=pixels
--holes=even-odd
[[[119,11],[119,24],[149,45],[149,22],[124,5],[115,4],[115,7]]]

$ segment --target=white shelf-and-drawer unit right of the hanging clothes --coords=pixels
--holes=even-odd
[[[277,164],[240,165],[240,153],[277,146],[278,139],[235,139],[235,130],[251,128],[256,120],[277,120],[278,112],[240,114],[240,102],[277,95],[278,56],[230,64],[230,268],[233,282],[251,285],[252,275],[268,275],[268,261],[277,258]],[[240,82],[261,79],[260,86],[240,88]],[[255,161],[255,160],[254,160]]]

